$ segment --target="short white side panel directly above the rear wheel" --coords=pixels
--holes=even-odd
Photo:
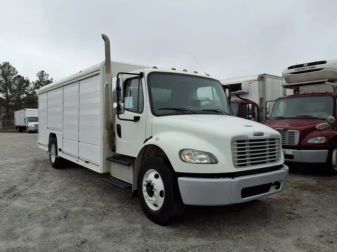
[[[48,91],[48,128],[62,129],[62,87]]]

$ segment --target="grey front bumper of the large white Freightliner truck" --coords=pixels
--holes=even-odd
[[[179,177],[178,185],[185,205],[222,206],[251,201],[282,192],[287,187],[289,168],[235,178]],[[281,181],[277,190],[242,197],[242,189]],[[247,189],[245,189],[247,190]]]

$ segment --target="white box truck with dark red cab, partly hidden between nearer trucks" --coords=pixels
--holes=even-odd
[[[220,82],[231,88],[231,108],[234,116],[254,118],[262,124],[266,123],[266,102],[271,103],[287,94],[287,89],[282,87],[283,78],[270,74],[225,79]]]

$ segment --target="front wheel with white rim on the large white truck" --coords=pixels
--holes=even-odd
[[[165,158],[150,156],[142,162],[137,191],[139,203],[150,221],[164,226],[182,216],[184,203],[178,182]]]

